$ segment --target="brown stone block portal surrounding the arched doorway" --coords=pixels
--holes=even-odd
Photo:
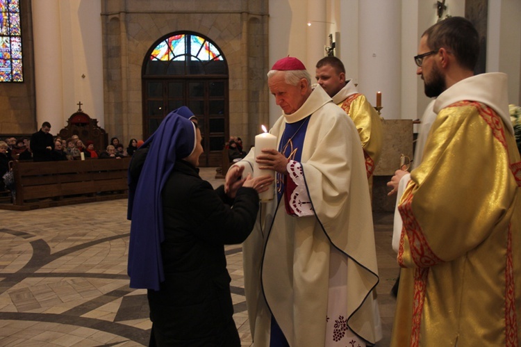
[[[142,138],[142,64],[151,45],[174,31],[206,35],[229,67],[229,131],[249,146],[251,122],[266,117],[267,6],[257,1],[102,0],[105,124],[125,141]],[[255,19],[249,22],[250,19]],[[257,40],[249,45],[249,40]],[[249,49],[251,48],[251,49]],[[254,49],[253,49],[254,48]],[[251,56],[250,56],[251,54]],[[262,87],[258,79],[261,79]],[[248,102],[253,102],[249,104]]]

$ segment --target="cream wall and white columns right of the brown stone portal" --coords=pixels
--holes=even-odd
[[[386,118],[418,118],[429,104],[424,95],[423,81],[416,75],[413,56],[422,33],[436,23],[438,17],[433,1],[401,0],[270,0],[270,58],[269,65],[290,54],[300,58],[311,76],[314,76],[310,45],[322,49],[329,33],[338,32],[337,56],[347,69],[347,76],[359,83],[361,91],[375,102],[374,89],[383,90],[383,111]],[[465,0],[446,0],[446,15],[464,16]],[[320,10],[317,10],[317,6]],[[361,7],[362,6],[362,7]],[[521,1],[489,0],[487,71],[508,74],[508,93],[511,102],[520,103],[521,97]],[[313,14],[309,11],[315,9]],[[370,10],[364,10],[370,8]],[[399,14],[396,15],[396,9]],[[324,32],[322,42],[316,42],[309,31],[304,30],[307,21],[325,10],[324,24],[318,30]],[[399,22],[399,32],[388,19]],[[309,27],[308,27],[309,28]],[[318,28],[313,24],[311,29]],[[315,43],[311,43],[315,40]],[[397,52],[392,47],[397,47]],[[381,54],[377,51],[386,47]],[[391,47],[391,51],[389,51]],[[377,53],[372,57],[371,51]],[[321,52],[322,53],[322,52]],[[370,56],[368,56],[369,54]],[[390,54],[389,57],[383,56]],[[382,60],[379,60],[379,58]],[[379,60],[372,63],[374,60]],[[392,66],[396,68],[393,68]],[[377,87],[381,86],[381,87]],[[388,89],[388,91],[385,90]],[[270,97],[270,123],[281,114],[280,108]]]

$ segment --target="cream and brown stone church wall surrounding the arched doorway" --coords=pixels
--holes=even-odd
[[[392,3],[400,8],[395,19],[400,23],[398,37],[389,37],[386,27],[377,20],[388,16],[386,6],[361,12],[360,0],[200,0],[197,3],[112,0],[101,1],[103,8],[99,1],[92,0],[49,1],[44,8],[52,10],[58,16],[56,20],[49,20],[52,16],[45,14],[41,1],[33,1],[33,22],[38,57],[35,59],[37,120],[39,124],[54,120],[53,129],[59,128],[60,122],[65,125],[81,100],[83,111],[97,118],[109,134],[140,137],[142,59],[155,40],[176,30],[208,35],[223,49],[230,64],[230,133],[242,135],[247,145],[258,132],[258,124],[272,125],[281,114],[265,84],[258,84],[265,83],[265,72],[276,60],[289,54],[300,58],[314,77],[315,60],[324,54],[329,33],[339,33],[337,56],[345,63],[347,76],[362,81],[364,92],[370,83],[396,89],[392,102],[398,105],[397,111],[390,115],[392,93],[384,91],[383,116],[417,118],[429,102],[424,96],[423,82],[415,74],[412,56],[417,53],[421,33],[436,22],[432,1]],[[364,1],[367,6],[367,1],[378,5],[383,0]],[[464,15],[465,0],[446,3],[446,15]],[[487,71],[508,74],[509,99],[515,104],[521,101],[520,12],[518,0],[489,1]],[[307,26],[308,22],[312,26]],[[367,42],[361,40],[361,28],[367,30],[367,26],[374,26],[372,35],[397,46],[398,76],[382,72],[377,66],[363,70],[361,76],[361,63],[366,63],[363,60],[367,58],[363,52],[367,47],[370,51],[372,45],[374,49],[381,46],[371,38]],[[99,40],[101,27],[105,28],[104,47]],[[261,47],[252,45],[253,42],[261,42]],[[256,58],[251,59],[249,54]],[[367,88],[366,93],[374,103],[372,89]]]

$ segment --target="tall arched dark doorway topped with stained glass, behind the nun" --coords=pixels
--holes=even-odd
[[[204,154],[201,166],[220,166],[228,136],[228,67],[220,49],[203,35],[171,33],[144,58],[143,136],[170,112],[188,106],[199,118]]]

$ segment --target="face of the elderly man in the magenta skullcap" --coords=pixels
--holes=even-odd
[[[301,79],[297,86],[286,83],[284,72],[278,71],[267,80],[267,86],[275,97],[276,104],[281,106],[282,111],[287,115],[295,113],[304,102],[306,102],[306,91],[308,81]]]

